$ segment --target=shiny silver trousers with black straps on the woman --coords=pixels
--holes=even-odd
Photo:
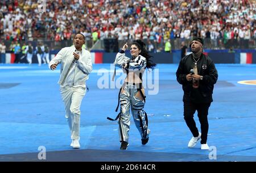
[[[141,134],[142,139],[148,138],[150,129],[148,129],[147,115],[143,111],[144,100],[138,98],[141,94],[139,91],[139,84],[125,83],[122,87],[119,95],[121,112],[119,116],[119,138],[120,141],[129,142],[129,130],[130,130],[130,108],[133,115],[134,123]],[[144,96],[141,95],[143,98]]]

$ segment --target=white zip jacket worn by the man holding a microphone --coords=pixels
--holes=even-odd
[[[85,49],[82,49],[82,54],[80,54],[79,60],[73,62],[73,65],[65,78],[65,74],[74,60],[73,52],[75,52],[75,50],[76,48],[74,45],[65,47],[49,62],[50,69],[52,64],[61,63],[60,79],[58,82],[60,86],[85,87],[85,81],[89,79],[89,74],[92,71],[92,58],[90,52]],[[61,85],[62,82],[63,85]]]

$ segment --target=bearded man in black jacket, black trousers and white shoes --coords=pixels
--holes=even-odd
[[[209,149],[207,145],[208,134],[208,109],[213,102],[213,86],[217,82],[218,72],[213,61],[203,54],[204,40],[193,37],[191,43],[192,53],[181,59],[176,71],[177,82],[182,85],[184,95],[184,119],[191,130],[193,137],[188,147],[193,147],[201,139],[201,149]],[[201,133],[196,128],[194,113],[201,124]]]

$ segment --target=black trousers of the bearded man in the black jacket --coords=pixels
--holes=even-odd
[[[209,129],[208,124],[208,110],[210,103],[193,103],[184,102],[184,119],[190,129],[193,137],[199,136],[199,131],[196,128],[196,122],[193,119],[195,112],[197,111],[197,116],[201,124],[201,144],[207,144],[207,134]]]

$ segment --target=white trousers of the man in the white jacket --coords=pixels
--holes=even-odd
[[[60,87],[72,140],[80,139],[80,106],[85,92],[84,87]]]

